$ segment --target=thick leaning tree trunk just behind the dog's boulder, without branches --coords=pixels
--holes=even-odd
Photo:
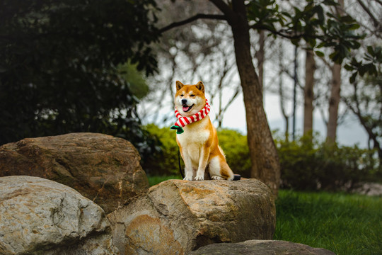
[[[243,89],[247,120],[248,147],[252,163],[251,177],[270,186],[277,196],[280,182],[279,157],[262,104],[262,88],[250,55],[250,35],[243,0],[233,4],[229,19],[232,28],[236,64]]]

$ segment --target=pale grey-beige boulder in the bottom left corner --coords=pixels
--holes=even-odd
[[[0,254],[119,254],[105,212],[74,189],[33,176],[0,178]]]

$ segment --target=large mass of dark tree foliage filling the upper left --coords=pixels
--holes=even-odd
[[[137,100],[118,64],[152,73],[156,4],[11,1],[0,9],[0,144],[105,132],[139,145]]]

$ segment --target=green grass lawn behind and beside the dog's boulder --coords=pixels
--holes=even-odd
[[[180,176],[149,176],[150,185]],[[382,254],[382,198],[279,191],[274,239],[325,248],[337,255]]]

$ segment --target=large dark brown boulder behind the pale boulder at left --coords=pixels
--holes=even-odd
[[[71,133],[0,147],[0,176],[38,176],[74,188],[106,213],[149,189],[139,153],[121,138]]]

